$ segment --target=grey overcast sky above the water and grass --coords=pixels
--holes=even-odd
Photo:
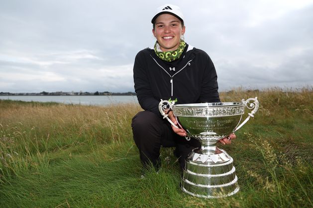
[[[313,0],[0,0],[0,92],[134,91],[165,3],[182,8],[220,90],[313,86]]]

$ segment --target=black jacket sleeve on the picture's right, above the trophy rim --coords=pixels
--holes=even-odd
[[[217,84],[217,74],[212,60],[209,58],[209,55],[206,54],[205,71],[202,79],[201,86],[201,102],[220,102],[218,94],[218,84]]]

